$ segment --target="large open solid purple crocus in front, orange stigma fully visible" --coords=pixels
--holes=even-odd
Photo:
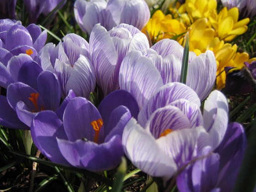
[[[98,110],[85,98],[76,97],[67,104],[63,121],[52,111],[38,113],[31,134],[37,148],[53,162],[90,171],[110,170],[123,155],[123,127],[138,112],[136,101],[126,91],[109,94]]]

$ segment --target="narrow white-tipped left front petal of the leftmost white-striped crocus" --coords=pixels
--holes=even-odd
[[[71,75],[72,67],[70,64],[62,63],[59,59],[55,62],[55,74],[58,76],[62,97],[65,97],[69,90],[67,90],[67,82]]]

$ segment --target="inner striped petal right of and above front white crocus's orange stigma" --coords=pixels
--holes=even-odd
[[[178,107],[181,112],[188,118],[190,127],[195,128],[203,126],[203,116],[200,108],[193,102],[185,99],[179,99],[171,103],[172,106]]]

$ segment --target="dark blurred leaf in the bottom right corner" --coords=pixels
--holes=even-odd
[[[251,134],[234,192],[252,192],[256,185],[256,118],[251,123]]]

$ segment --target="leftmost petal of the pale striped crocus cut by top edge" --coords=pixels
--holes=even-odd
[[[75,20],[78,23],[79,27],[83,30],[83,32],[86,32],[86,27],[84,27],[83,23],[83,16],[85,15],[89,5],[90,2],[85,0],[76,0],[74,4]]]

